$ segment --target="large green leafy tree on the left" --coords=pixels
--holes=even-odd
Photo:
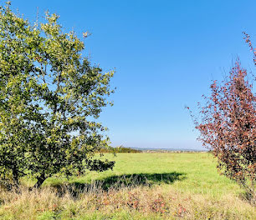
[[[82,56],[84,42],[63,32],[56,14],[31,24],[0,7],[0,180],[23,176],[40,187],[54,174],[104,171],[114,162],[93,159],[108,146],[99,117],[113,72]],[[8,182],[7,182],[8,181]]]

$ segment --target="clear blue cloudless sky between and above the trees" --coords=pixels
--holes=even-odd
[[[185,105],[195,107],[236,57],[253,71],[242,32],[256,45],[255,0],[13,0],[12,7],[33,21],[49,9],[67,31],[92,33],[84,54],[116,71],[114,106],[100,116],[114,146],[201,148]]]

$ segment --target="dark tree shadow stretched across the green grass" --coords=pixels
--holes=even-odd
[[[119,190],[121,188],[136,188],[137,186],[151,187],[155,184],[172,184],[175,181],[182,181],[186,173],[138,173],[120,176],[110,176],[102,180],[95,180],[92,183],[58,183],[52,187],[57,189],[59,195],[70,193],[78,197],[79,193],[97,193],[101,191]]]

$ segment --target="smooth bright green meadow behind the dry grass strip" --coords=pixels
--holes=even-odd
[[[228,178],[219,175],[210,153],[105,153],[103,158],[115,161],[111,171],[91,172],[81,178],[49,178],[45,185],[69,183],[94,183],[102,181],[109,187],[123,180],[132,184],[141,178],[140,185],[159,185],[180,192],[201,193],[221,197],[225,193],[239,194],[243,191]],[[107,187],[107,186],[106,186]]]

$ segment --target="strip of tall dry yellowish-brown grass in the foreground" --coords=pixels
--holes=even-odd
[[[0,189],[0,219],[254,219],[255,209],[228,194],[221,200],[162,186],[105,191],[100,183],[77,188]]]

